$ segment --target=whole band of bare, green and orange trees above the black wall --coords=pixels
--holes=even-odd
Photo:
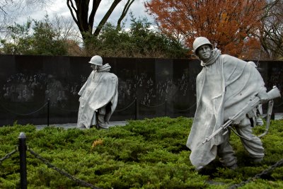
[[[23,2],[13,3],[20,1]],[[135,18],[129,11],[134,0],[125,0],[117,23],[108,23],[112,11],[122,1],[112,1],[97,25],[94,20],[101,0],[67,0],[69,19],[55,16],[50,21],[46,16],[42,21],[30,18],[23,25],[2,25],[0,28],[5,28],[8,35],[1,37],[1,53],[187,58],[193,55],[193,40],[202,35],[223,53],[242,59],[283,57],[283,0],[145,1],[147,13],[155,23],[149,23],[146,17]],[[0,13],[8,15],[3,4]],[[125,28],[127,15],[129,28]]]

